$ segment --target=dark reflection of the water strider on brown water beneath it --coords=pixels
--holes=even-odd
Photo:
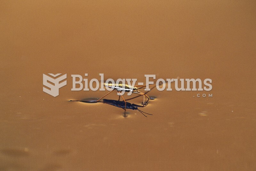
[[[106,103],[106,104],[110,104],[110,105],[113,105],[113,106],[124,109],[124,117],[126,117],[126,109],[138,110],[145,117],[147,117],[145,114],[153,115],[153,114],[149,114],[149,113],[143,112],[142,110],[138,109],[138,107],[145,107],[147,105],[142,106],[142,105],[132,104],[132,103],[129,103],[129,102],[124,102],[124,101],[108,100],[108,99],[103,99],[103,101],[97,101],[97,100],[89,100],[89,101],[70,100],[70,101],[72,101],[72,102],[84,102],[84,103]]]

